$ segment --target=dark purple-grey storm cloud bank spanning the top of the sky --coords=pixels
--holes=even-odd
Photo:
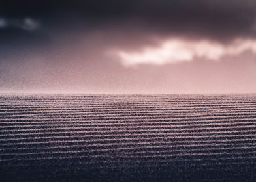
[[[256,1],[10,0],[0,5],[1,55],[52,44],[52,39],[58,41],[61,34],[95,31],[103,31],[106,36],[108,32],[118,34],[114,39],[120,38],[120,42],[136,40],[130,41],[131,45],[144,44],[149,35],[219,42],[252,38],[256,34]]]

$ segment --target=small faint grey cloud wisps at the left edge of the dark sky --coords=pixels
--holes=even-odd
[[[35,31],[39,28],[39,21],[32,18],[5,19],[0,18],[0,29],[14,28],[24,31]]]

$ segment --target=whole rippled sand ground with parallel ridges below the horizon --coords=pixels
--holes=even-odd
[[[256,95],[0,95],[0,181],[254,181]]]

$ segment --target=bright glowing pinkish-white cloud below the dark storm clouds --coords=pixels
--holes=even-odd
[[[256,53],[256,40],[236,39],[225,45],[207,40],[189,41],[170,39],[159,47],[145,47],[141,52],[116,51],[125,66],[137,64],[175,64],[197,58],[218,61],[225,56],[237,56],[244,51]]]

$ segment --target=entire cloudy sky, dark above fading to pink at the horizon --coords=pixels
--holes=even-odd
[[[255,0],[1,1],[0,92],[256,92]]]

